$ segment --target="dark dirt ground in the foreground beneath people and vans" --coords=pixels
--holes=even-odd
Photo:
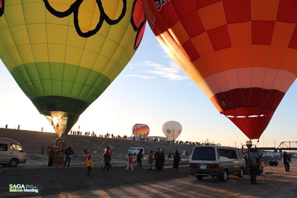
[[[135,171],[125,171],[125,167],[117,166],[121,160],[113,161],[111,172],[102,172],[103,164],[97,161],[87,176],[86,167],[76,159],[68,169],[47,167],[45,159],[38,156],[29,154],[28,158],[32,163],[0,167],[0,197],[296,197],[297,194],[297,158],[292,159],[290,172],[285,172],[281,161],[277,167],[266,164],[264,172],[275,173],[271,180],[257,176],[259,185],[251,185],[249,175],[244,178],[230,175],[227,182],[217,178],[198,181],[189,175],[189,167],[180,167],[176,173],[170,162],[168,168],[158,173],[147,170],[146,161],[142,169],[134,165]],[[10,184],[33,186],[38,193],[10,192]]]

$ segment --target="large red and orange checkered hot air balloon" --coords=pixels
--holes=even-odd
[[[155,36],[220,113],[259,139],[297,75],[295,0],[143,0]]]

